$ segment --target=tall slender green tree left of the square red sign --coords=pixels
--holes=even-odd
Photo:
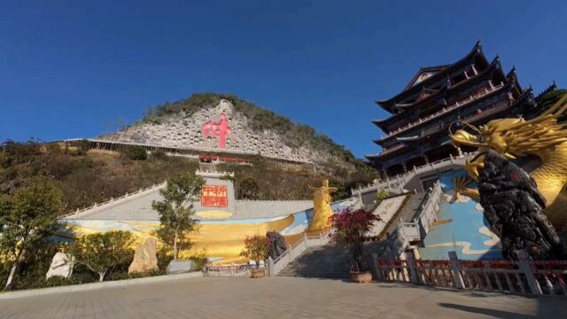
[[[205,180],[193,173],[175,175],[159,191],[162,201],[153,201],[151,207],[159,214],[159,239],[173,248],[174,260],[179,257],[180,246],[187,246],[187,234],[197,229],[192,220],[193,202],[197,201]]]

